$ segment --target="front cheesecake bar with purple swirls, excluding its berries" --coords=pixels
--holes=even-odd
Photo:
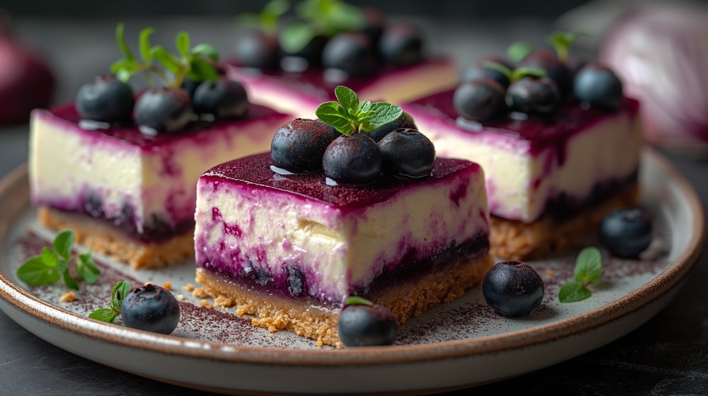
[[[462,296],[491,267],[484,171],[437,158],[422,178],[327,185],[274,173],[270,153],[217,165],[197,184],[196,280],[253,324],[342,347],[346,298],[399,323]]]

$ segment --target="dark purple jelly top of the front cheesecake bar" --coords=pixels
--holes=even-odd
[[[466,160],[438,158],[430,176],[418,179],[382,176],[371,185],[350,186],[325,184],[324,173],[278,175],[270,170],[270,153],[260,153],[229,161],[211,168],[201,178],[209,182],[234,182],[287,191],[309,199],[326,202],[338,209],[358,209],[392,197],[402,189],[416,188],[430,182],[443,182],[462,170],[474,173],[481,167]],[[451,197],[454,199],[455,197]]]

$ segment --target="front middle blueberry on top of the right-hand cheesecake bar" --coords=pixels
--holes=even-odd
[[[559,109],[561,94],[552,79],[526,76],[506,90],[506,105],[512,111],[549,114]]]

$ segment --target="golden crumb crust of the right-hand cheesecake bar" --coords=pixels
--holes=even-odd
[[[632,185],[615,197],[563,221],[544,216],[533,223],[523,223],[490,216],[491,254],[507,260],[537,259],[597,232],[600,221],[610,211],[638,203],[639,185]]]

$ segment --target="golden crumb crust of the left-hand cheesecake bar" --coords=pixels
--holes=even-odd
[[[161,243],[143,243],[101,221],[47,206],[38,208],[38,219],[57,231],[70,228],[77,243],[94,252],[127,262],[133,269],[158,268],[194,255],[194,233],[189,231]]]

